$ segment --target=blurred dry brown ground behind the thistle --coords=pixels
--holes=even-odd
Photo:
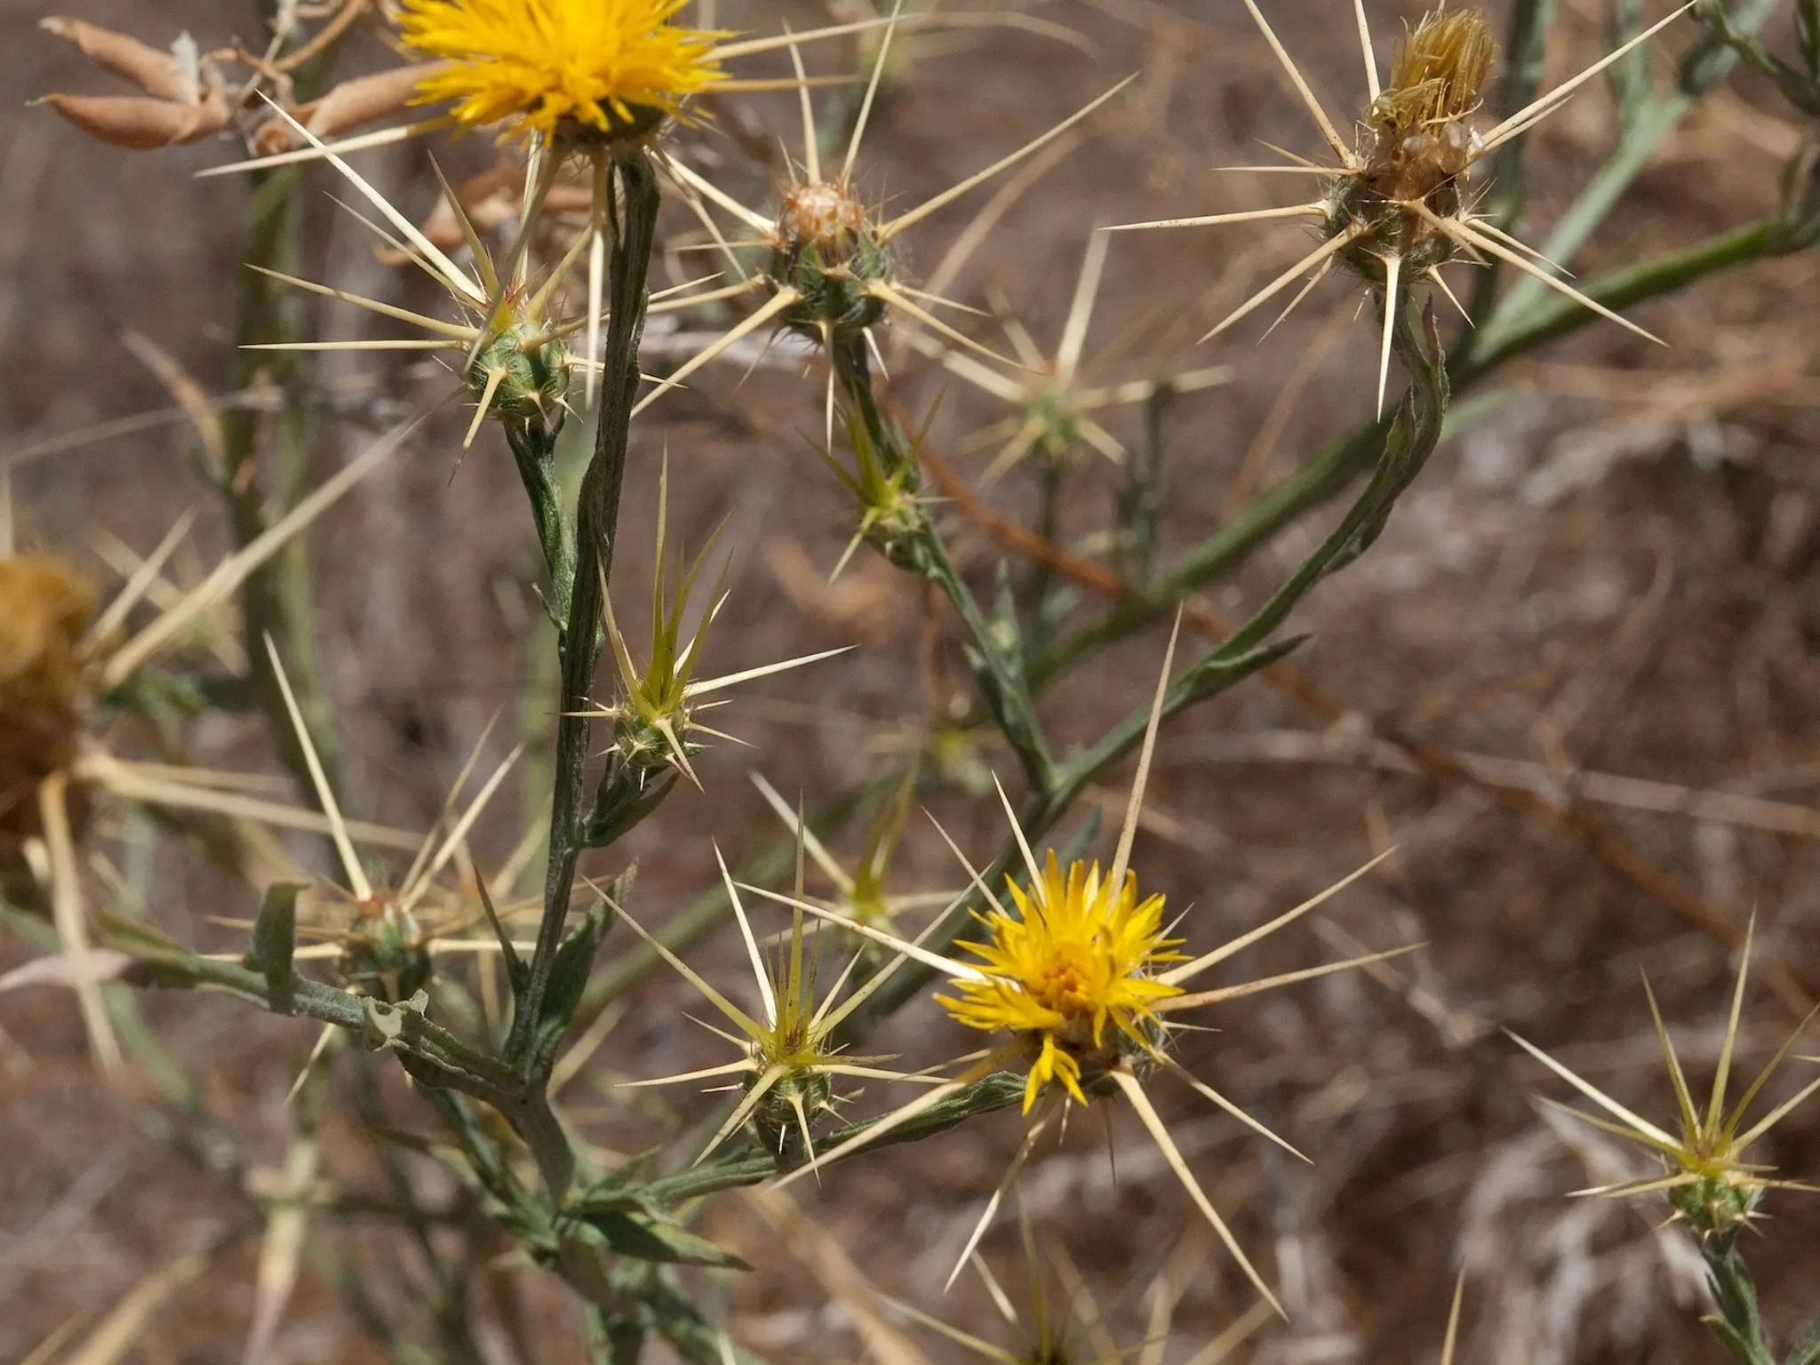
[[[790,5],[808,22],[810,5]],[[1551,73],[1594,51],[1600,11],[1563,7]],[[84,142],[47,113],[18,109],[47,89],[98,89],[80,60],[33,31],[46,5],[0,16],[5,189],[0,193],[0,368],[5,448],[87,422],[158,408],[158,384],[122,349],[127,329],[155,337],[207,384],[228,371],[242,186],[195,182],[193,169],[233,155],[204,146],[131,155]],[[82,16],[153,42],[189,27],[206,44],[249,25],[240,5],[131,5],[93,0]],[[994,35],[941,60],[919,62],[881,107],[874,187],[901,202],[950,184],[1065,115],[1117,75],[1145,78],[1119,113],[1005,220],[961,284],[972,302],[1001,293],[1037,337],[1054,337],[1087,229],[1174,211],[1287,202],[1276,184],[1214,175],[1256,160],[1259,140],[1314,142],[1269,53],[1238,4],[1150,0],[1052,4],[1043,13],[1097,44],[1090,60],[1036,35]],[[1343,7],[1278,4],[1281,33],[1309,64],[1329,104],[1356,96],[1358,62]],[[1409,11],[1410,15],[1414,11]],[[1380,29],[1396,15],[1378,11]],[[770,18],[766,18],[770,22]],[[1682,35],[1680,40],[1684,40]],[[1587,253],[1589,264],[1642,253],[1744,220],[1774,195],[1771,155],[1791,131],[1782,107],[1753,82],[1693,118],[1643,175]],[[794,142],[788,106],[761,106]],[[1547,226],[1613,142],[1603,87],[1582,95],[1536,138],[1531,235]],[[750,189],[763,182],[737,169]],[[479,166],[486,147],[451,153]],[[371,158],[375,178],[426,209],[433,187],[420,157]],[[326,178],[322,184],[328,184]],[[952,211],[917,233],[914,260],[932,266],[965,224]],[[684,224],[679,220],[679,228]],[[1230,360],[1230,388],[1188,399],[1170,420],[1167,546],[1218,526],[1236,480],[1281,477],[1369,404],[1374,340],[1354,320],[1354,297],[1320,291],[1298,320],[1252,344],[1241,328],[1203,351],[1187,346],[1239,297],[1294,258],[1296,233],[1232,229],[1156,235],[1112,253],[1094,335],[1130,344],[1110,371],[1159,362]],[[344,284],[431,302],[415,282],[373,266],[346,220],[315,211],[311,269]],[[1815,329],[1807,260],[1713,280],[1640,311],[1673,340],[1654,351],[1611,328],[1547,349],[1511,375],[1509,402],[1449,440],[1403,500],[1383,542],[1323,586],[1298,628],[1314,639],[1298,666],[1360,713],[1392,717],[1436,744],[1538,764],[1744,792],[1796,806],[1820,784],[1820,670],[1813,641],[1820,599],[1820,477],[1815,471],[1816,380],[1807,377]],[[346,326],[337,315],[335,326]],[[985,328],[986,324],[979,324]],[[1267,450],[1258,433],[1285,379],[1325,346],[1312,382],[1287,404]],[[1090,351],[1092,353],[1092,351]],[[939,384],[906,366],[899,388],[921,410]],[[344,413],[328,426],[320,466],[333,468],[375,420],[375,399],[422,393],[397,371],[324,366],[324,391]],[[679,792],[630,841],[642,863],[637,905],[657,921],[710,883],[710,837],[739,855],[774,837],[744,781],[759,764],[786,792],[812,797],[872,777],[890,741],[928,712],[917,672],[917,593],[861,559],[834,592],[815,588],[850,533],[832,480],[799,431],[819,424],[815,380],[764,369],[735,391],[737,369],[710,373],[637,440],[628,488],[622,592],[648,581],[655,470],[668,444],[679,530],[699,542],[723,517],[737,546],[733,608],[715,635],[717,666],[859,639],[864,648],[788,682],[755,688],[768,703],[732,710],[755,753],[721,748],[703,761],[708,795]],[[937,440],[952,446],[996,417],[977,395],[948,386]],[[351,755],[351,804],[375,819],[420,826],[486,717],[513,706],[521,655],[513,621],[528,602],[531,564],[515,480],[493,435],[450,479],[455,419],[393,462],[329,517],[313,539],[320,641]],[[1136,439],[1132,420],[1119,431]],[[1250,451],[1250,455],[1247,453]],[[968,466],[981,468],[976,459]],[[1083,477],[1068,533],[1099,526],[1110,480]],[[169,519],[206,499],[182,462],[180,435],[155,431],[96,444],[22,471],[15,482],[27,535],[82,553],[96,530],[140,550]],[[1001,504],[1026,504],[1010,479]],[[204,517],[206,546],[220,528]],[[954,541],[981,586],[997,551],[974,530]],[[1214,602],[1258,601],[1312,530],[1259,555]],[[804,557],[814,571],[779,571]],[[808,586],[804,586],[808,584]],[[1161,659],[1150,633],[1097,659],[1048,701],[1057,739],[1088,737],[1134,704]],[[957,657],[948,657],[950,673]],[[952,681],[952,679],[950,679]],[[1261,1148],[1236,1125],[1170,1096],[1176,1130],[1241,1241],[1283,1287],[1292,1329],[1267,1329],[1256,1360],[1432,1360],[1454,1267],[1469,1272],[1460,1360],[1700,1361],[1718,1350],[1696,1325],[1696,1267],[1656,1210],[1567,1201],[1567,1190],[1631,1163],[1603,1139],[1542,1117],[1529,1094],[1538,1068],[1496,1032],[1522,1030],[1629,1101],[1667,1112],[1638,968],[1649,970],[1702,1076],[1709,1070],[1731,979],[1724,946],[1660,899],[1614,875],[1572,837],[1514,815],[1458,784],[1390,772],[1370,761],[1356,728],[1321,732],[1298,706],[1252,682],[1187,717],[1167,744],[1154,784],[1165,819],[1139,839],[1148,886],[1194,905],[1196,943],[1256,923],[1396,843],[1385,874],[1252,956],[1258,972],[1289,970],[1363,941],[1432,946],[1385,981],[1345,977],[1296,988],[1216,1023],[1183,1059],[1243,1099],[1314,1156],[1312,1168]],[[198,753],[258,763],[249,723],[197,726]],[[504,737],[495,739],[500,752]],[[1003,764],[1003,755],[986,755]],[[988,801],[945,797],[950,828],[972,850],[999,837]],[[1749,812],[1745,812],[1749,814]],[[1811,839],[1678,814],[1600,808],[1600,817],[1682,886],[1733,921],[1754,908],[1765,956],[1805,970],[1820,952],[1820,883]],[[484,857],[510,830],[482,839]],[[950,885],[954,870],[926,828],[901,861],[910,886]],[[155,914],[173,932],[228,943],[207,915],[244,914],[248,899],[169,852],[157,857]],[[1323,941],[1325,939],[1325,941]],[[0,966],[27,948],[0,937]],[[721,981],[739,976],[726,935],[693,957]],[[308,1028],[249,1017],[207,999],[146,1003],[160,1036],[198,1079],[213,1110],[262,1163],[282,1156],[280,1099],[311,1043]],[[601,1054],[602,1076],[706,1065],[713,1041],[682,1017],[686,992],[652,979]],[[1751,1056],[1765,1056],[1789,1010],[1765,990],[1749,999]],[[0,999],[0,1360],[18,1360],[69,1314],[96,1314],[147,1272],[248,1218],[248,1203],[173,1150],[169,1123],[144,1092],[111,1094],[89,1070],[71,999],[35,988]],[[932,1059],[959,1043],[926,1005],[888,1030],[890,1046]],[[1796,1067],[1793,1076],[1811,1068]],[[652,1121],[606,1110],[595,1088],[577,1107],[590,1132],[637,1147]],[[371,1185],[355,1136],[351,1092],[329,1127],[331,1172]],[[408,1094],[399,1121],[422,1121]],[[686,1112],[708,1101],[682,1097]],[[593,1107],[593,1108],[588,1108]],[[1032,1163],[1025,1187],[1045,1236],[1079,1261],[1121,1340],[1143,1338],[1143,1296],[1196,1219],[1150,1158],[1136,1125],[1119,1119],[1114,1185],[1094,1125]],[[990,1190],[1017,1125],[1010,1116],[888,1158],[830,1172],[794,1198],[814,1234],[795,1250],[844,1252],[886,1292],[976,1330],[992,1330],[985,1294],[939,1285]],[[1820,1108],[1769,1143],[1769,1159],[1815,1174]],[[422,1174],[426,1190],[435,1188]],[[1776,1201],[1753,1241],[1769,1320],[1784,1334],[1820,1307],[1820,1212]],[[706,1230],[761,1259],[719,1281],[735,1336],[774,1360],[855,1356],[844,1314],[737,1196],[712,1205]],[[402,1238],[366,1228],[359,1265],[379,1298],[417,1294],[419,1269]],[[1014,1238],[990,1239],[1001,1272],[1016,1270]],[[1250,1303],[1223,1254],[1181,1252],[1181,1309],[1167,1360],[1188,1360]],[[217,1259],[146,1332],[136,1360],[238,1358],[251,1307],[251,1247]],[[579,1360],[561,1292],[531,1272],[477,1272],[482,1318],[511,1294],[528,1305],[539,1361]],[[959,1358],[926,1334],[930,1360]],[[511,1349],[490,1329],[490,1350]],[[1254,1347],[1247,1347],[1252,1350]],[[357,1361],[382,1352],[306,1272],[275,1360]],[[1239,1354],[1245,1358],[1245,1352]]]

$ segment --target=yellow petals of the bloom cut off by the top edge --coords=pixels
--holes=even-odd
[[[617,135],[724,80],[723,35],[673,25],[684,0],[404,0],[404,40],[450,66],[419,86],[470,127],[517,120]]]

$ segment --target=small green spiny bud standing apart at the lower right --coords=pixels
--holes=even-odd
[[[1725,1019],[1725,1036],[1720,1045],[1718,1067],[1713,1072],[1713,1088],[1707,1094],[1705,1105],[1694,1101],[1693,1090],[1687,1085],[1687,1074],[1674,1050],[1674,1041],[1669,1037],[1669,1030],[1662,1023],[1662,1010],[1656,1008],[1656,994],[1649,988],[1649,979],[1643,979],[1643,994],[1649,997],[1649,1016],[1656,1025],[1656,1037],[1662,1043],[1662,1057],[1669,1070],[1669,1085],[1674,1088],[1676,1123],[1673,1127],[1662,1127],[1640,1117],[1596,1085],[1545,1054],[1542,1048],[1523,1041],[1516,1034],[1511,1034],[1518,1046],[1605,1110],[1609,1117],[1587,1114],[1547,1097],[1543,1097],[1542,1103],[1551,1108],[1558,1108],[1563,1114],[1571,1114],[1594,1128],[1611,1132],[1618,1138],[1627,1138],[1653,1152],[1662,1163],[1662,1176],[1623,1181],[1620,1185],[1603,1185],[1591,1190],[1580,1190],[1580,1194],[1598,1194],[1607,1199],[1623,1199],[1638,1194],[1667,1194],[1669,1203],[1674,1207],[1674,1218],[1684,1219],[1702,1239],[1727,1236],[1744,1227],[1756,1216],[1758,1201],[1764,1198],[1765,1190],[1804,1190],[1809,1194],[1820,1194],[1820,1187],[1815,1185],[1773,1179],[1769,1176],[1771,1167],[1745,1159],[1751,1147],[1762,1141],[1771,1128],[1793,1114],[1802,1101],[1820,1090],[1820,1081],[1811,1081],[1796,1090],[1795,1096],[1771,1108],[1764,1117],[1745,1127],[1745,1116],[1749,1114],[1753,1101],[1758,1094],[1762,1094],[1771,1076],[1774,1076],[1776,1068],[1789,1056],[1795,1043],[1807,1030],[1807,1025],[1815,1021],[1815,1016],[1820,1016],[1820,1008],[1809,1012],[1809,1016],[1796,1025],[1795,1032],[1789,1034],[1787,1041],[1776,1050],[1776,1056],[1769,1059],[1769,1065],[1765,1065],[1764,1070],[1756,1074],[1756,1079],[1745,1087],[1738,1101],[1727,1107],[1727,1085],[1731,1081],[1733,1057],[1738,1046],[1738,1021],[1744,1014],[1744,988],[1749,974],[1754,930],[1756,921],[1753,917],[1751,930],[1745,934],[1744,957],[1738,963],[1738,983],[1733,988],[1731,1014]]]

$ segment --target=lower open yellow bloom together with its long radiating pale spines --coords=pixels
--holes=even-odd
[[[1074,861],[1063,872],[1054,854],[1045,859],[1045,864],[1039,864],[1017,824],[1017,815],[1012,812],[1010,801],[1005,799],[1005,792],[999,788],[999,797],[1005,801],[1005,812],[1012,826],[1016,855],[1021,859],[1023,872],[1028,877],[1025,886],[1019,886],[1016,879],[1006,875],[1010,906],[994,895],[992,888],[986,886],[959,846],[948,839],[948,846],[963,868],[966,868],[974,894],[988,906],[985,914],[976,912],[976,923],[986,930],[988,937],[963,945],[965,952],[977,961],[932,952],[919,941],[905,941],[879,928],[852,925],[855,934],[895,948],[906,957],[915,957],[925,966],[945,974],[957,996],[937,996],[937,1001],[959,1023],[990,1032],[999,1041],[985,1056],[972,1054],[959,1059],[963,1070],[952,1081],[892,1110],[861,1134],[832,1148],[826,1158],[834,1159],[875,1141],[899,1123],[915,1117],[928,1107],[979,1081],[999,1067],[1021,1067],[1025,1070],[1025,1141],[1008,1163],[997,1192],[986,1203],[983,1216],[974,1227],[974,1234],[954,1267],[957,1274],[979,1243],[979,1238],[985,1236],[1003,1194],[1010,1188],[1025,1159],[1034,1150],[1036,1139],[1052,1123],[1059,1123],[1070,1103],[1087,1103],[1088,1097],[1103,1097],[1107,1101],[1125,1099],[1138,1114],[1152,1141],[1156,1141],[1163,1159],[1181,1181],[1190,1201],[1212,1225],[1258,1292],[1281,1312],[1276,1296],[1239,1249],[1225,1219],[1188,1170],[1187,1159],[1150,1103],[1145,1079],[1158,1070],[1176,1076],[1245,1127],[1299,1158],[1301,1154],[1296,1148],[1214,1087],[1192,1076],[1170,1056],[1170,1032],[1183,1026],[1174,1023],[1170,1016],[1178,1010],[1238,999],[1296,981],[1309,981],[1352,966],[1363,966],[1365,963],[1410,952],[1416,945],[1263,977],[1236,986],[1218,986],[1199,992],[1185,990],[1187,983],[1212,966],[1218,966],[1321,905],[1329,895],[1361,877],[1383,855],[1294,910],[1241,934],[1212,952],[1194,959],[1178,954],[1178,941],[1170,937],[1172,926],[1163,926],[1163,897],[1139,899],[1136,877],[1130,875],[1138,815],[1143,808],[1150,759],[1156,753],[1158,726],[1163,717],[1163,701],[1168,692],[1174,653],[1176,639],[1170,637],[1163,677],[1150,706],[1148,724],[1145,726],[1138,774],[1132,781],[1117,850],[1105,875],[1099,875],[1097,866],[1079,861]],[[946,832],[943,832],[943,837],[946,839]],[[763,888],[750,890],[761,895],[774,895]],[[788,905],[799,906],[804,914],[821,919],[837,919],[832,912],[801,897],[774,895],[774,899],[783,899]],[[939,925],[941,919],[930,928],[937,928]]]

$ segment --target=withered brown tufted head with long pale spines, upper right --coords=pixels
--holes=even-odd
[[[1556,273],[1551,273],[1558,269],[1552,262],[1542,260],[1538,264],[1531,248],[1511,237],[1500,224],[1478,215],[1471,182],[1474,167],[1485,157],[1560,109],[1585,82],[1680,18],[1693,7],[1693,0],[1483,133],[1472,126],[1472,116],[1480,107],[1480,95],[1496,49],[1485,15],[1478,9],[1447,11],[1440,7],[1423,15],[1416,27],[1405,35],[1390,64],[1390,82],[1385,86],[1380,82],[1378,56],[1372,49],[1363,0],[1354,0],[1367,87],[1358,146],[1341,138],[1263,11],[1258,9],[1256,0],[1245,0],[1245,7],[1289,75],[1296,95],[1338,164],[1320,166],[1294,153],[1285,153],[1290,157],[1289,164],[1223,167],[1292,177],[1309,175],[1321,180],[1323,195],[1303,204],[1196,218],[1159,218],[1121,224],[1112,229],[1199,228],[1269,218],[1309,218],[1316,226],[1320,244],[1239,304],[1201,340],[1225,331],[1252,309],[1298,284],[1312,269],[1314,277],[1283,309],[1283,317],[1287,317],[1334,266],[1343,264],[1372,286],[1383,302],[1383,340],[1378,364],[1378,410],[1381,411],[1392,340],[1409,289],[1420,280],[1432,280],[1452,298],[1440,269],[1456,258],[1474,262],[1496,258],[1574,298],[1600,317],[1611,318],[1647,340],[1660,340],[1562,282]],[[1281,317],[1278,320],[1281,322]]]

